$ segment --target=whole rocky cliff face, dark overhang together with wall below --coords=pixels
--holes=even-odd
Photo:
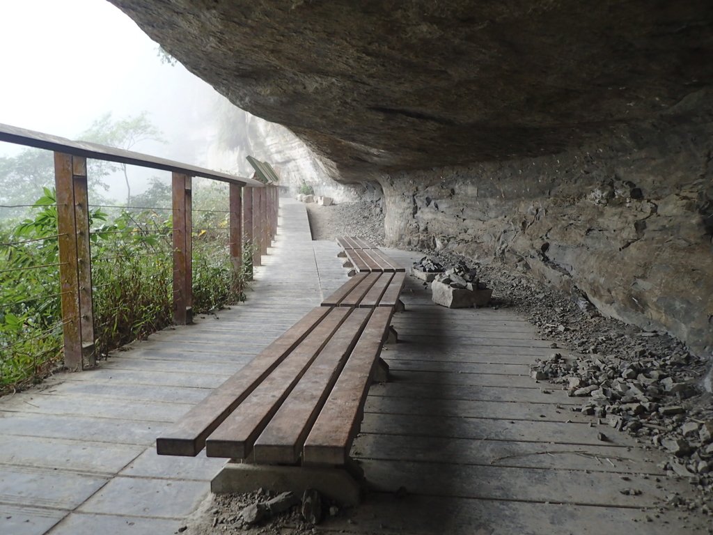
[[[378,181],[391,243],[710,351],[713,3],[111,1],[320,172]]]

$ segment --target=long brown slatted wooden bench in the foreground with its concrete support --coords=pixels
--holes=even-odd
[[[214,492],[315,488],[359,501],[349,451],[399,304],[404,272],[361,273],[156,440],[160,455],[225,457]],[[336,468],[335,468],[336,467]]]

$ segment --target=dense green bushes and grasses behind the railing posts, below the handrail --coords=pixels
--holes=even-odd
[[[220,188],[199,188],[193,247],[193,310],[245,299],[244,268],[229,258]],[[222,199],[221,199],[222,200]],[[227,199],[225,200],[227,204]],[[56,195],[44,188],[33,216],[0,228],[0,391],[43,377],[61,360]],[[91,219],[92,285],[98,355],[167,325],[173,317],[173,222],[152,210]],[[209,230],[210,229],[210,230]]]

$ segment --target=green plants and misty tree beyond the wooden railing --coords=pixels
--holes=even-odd
[[[114,122],[105,116],[88,132],[91,136],[84,137],[91,141],[126,147],[139,138],[160,139],[143,115]],[[171,191],[154,178],[148,190],[127,199],[137,208],[107,208],[116,203],[101,196],[101,178],[113,172],[126,178],[125,168],[96,161],[89,165],[94,335],[97,357],[106,357],[172,322]],[[49,151],[28,149],[0,158],[0,394],[41,380],[62,360],[52,183]],[[227,208],[227,185],[194,180],[195,314],[245,299],[245,265],[236,272],[230,261]]]

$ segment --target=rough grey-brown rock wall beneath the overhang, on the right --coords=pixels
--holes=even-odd
[[[555,156],[389,175],[387,243],[518,265],[710,353],[713,121],[703,102],[709,94]]]

